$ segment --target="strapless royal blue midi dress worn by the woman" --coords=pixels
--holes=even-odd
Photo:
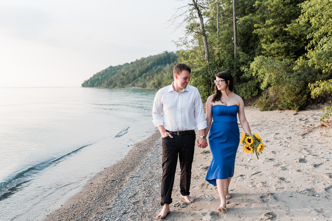
[[[234,175],[236,151],[240,143],[238,111],[237,105],[212,107],[213,122],[208,136],[212,161],[205,179],[210,184],[217,185],[216,179]]]

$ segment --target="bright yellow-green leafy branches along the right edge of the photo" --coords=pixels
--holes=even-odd
[[[332,77],[332,0],[311,0],[301,4],[302,14],[297,19],[301,25],[311,25],[308,29],[307,38],[310,39],[306,46],[307,53],[298,59],[295,69],[304,65],[322,69],[326,73],[326,78]],[[324,79],[326,79],[324,78]],[[311,97],[314,98],[325,91],[332,91],[332,80],[316,81],[309,84]],[[332,116],[332,106],[325,107],[320,120]]]

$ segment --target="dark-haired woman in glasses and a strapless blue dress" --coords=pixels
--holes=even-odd
[[[215,76],[215,94],[209,96],[206,103],[205,134],[211,127],[209,144],[213,156],[206,181],[217,186],[220,196],[220,206],[217,210],[226,212],[226,199],[231,198],[228,186],[234,174],[236,151],[240,140],[237,113],[244,132],[251,135],[251,131],[244,115],[243,100],[232,92],[232,75],[224,71]]]

